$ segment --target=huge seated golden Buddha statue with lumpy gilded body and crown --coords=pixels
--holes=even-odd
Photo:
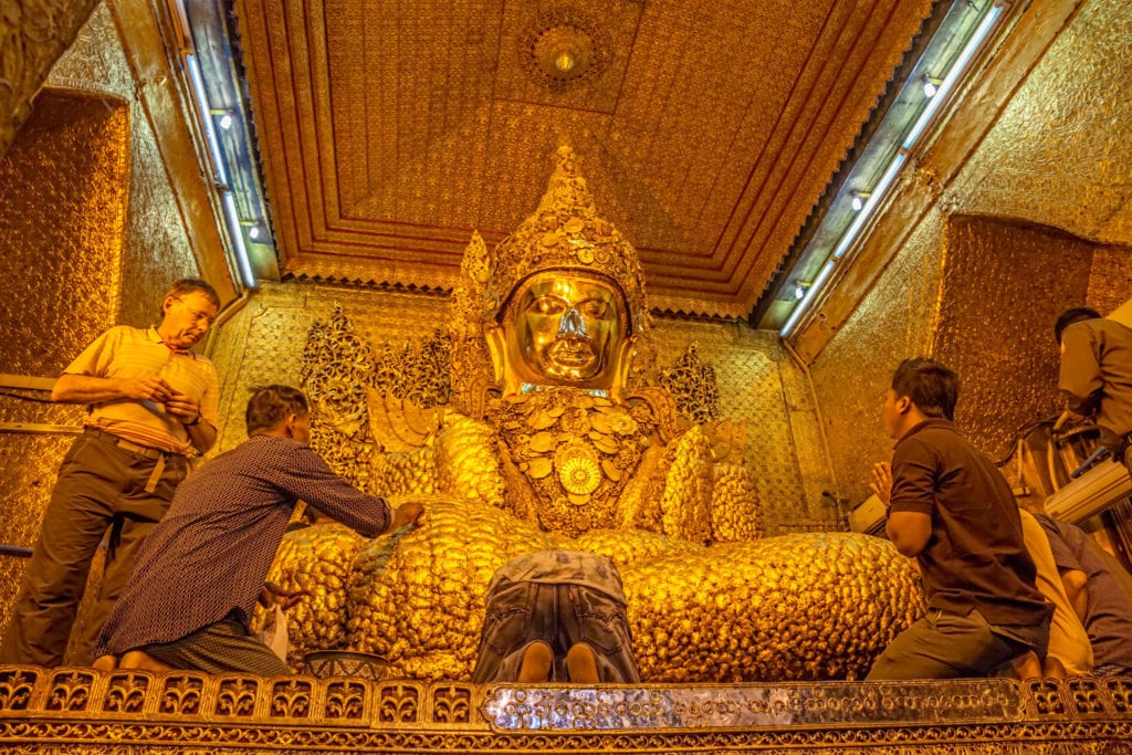
[[[466,679],[494,572],[569,549],[617,563],[645,681],[863,676],[923,611],[914,569],[867,535],[760,538],[741,434],[687,421],[649,385],[636,252],[573,153],[557,157],[538,209],[494,254],[473,235],[430,352],[446,391],[378,381],[359,409],[357,386],[326,385],[326,366],[366,363],[341,353],[361,348],[349,321],[312,331],[307,389],[337,428],[316,446],[332,463],[372,446],[354,481],[426,514],[375,540],[340,525],[288,535],[272,578],[312,592],[293,612],[292,661],[340,647],[385,655],[391,676]]]

